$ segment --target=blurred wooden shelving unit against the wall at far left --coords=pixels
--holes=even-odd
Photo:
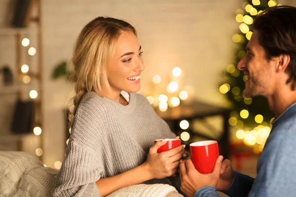
[[[5,95],[13,95],[15,94],[17,96],[17,99],[19,100],[29,100],[29,94],[27,94],[27,92],[29,93],[30,90],[36,90],[38,92],[38,96],[36,99],[34,99],[34,102],[36,105],[36,107],[34,107],[34,114],[33,114],[33,127],[36,126],[36,124],[38,124],[38,126],[43,129],[43,108],[42,106],[42,102],[43,102],[43,96],[41,91],[43,90],[43,53],[42,53],[42,49],[43,49],[43,45],[42,45],[42,10],[41,10],[41,0],[32,0],[32,9],[33,9],[33,13],[35,13],[34,18],[31,18],[31,16],[33,15],[28,15],[29,21],[28,21],[28,25],[29,27],[25,27],[25,28],[14,28],[14,27],[7,27],[7,28],[0,28],[0,36],[7,36],[9,37],[9,39],[14,39],[15,40],[15,55],[16,55],[16,71],[14,73],[15,76],[19,76],[22,72],[21,72],[21,66],[26,62],[24,61],[24,59],[26,58],[26,56],[24,55],[24,53],[27,51],[24,50],[24,47],[22,46],[22,40],[25,36],[29,36],[30,37],[35,37],[36,38],[36,47],[38,48],[38,53],[35,56],[35,58],[37,58],[37,71],[36,73],[28,73],[28,75],[33,79],[35,79],[33,82],[33,84],[23,84],[21,82],[16,82],[15,84],[11,85],[11,86],[0,86],[0,97],[5,97]],[[28,34],[28,35],[27,35]],[[6,98],[5,98],[6,99]],[[10,98],[8,98],[10,99]],[[5,103],[3,103],[5,104]],[[37,113],[38,112],[38,113]],[[37,118],[38,115],[38,118]],[[38,121],[38,122],[36,122]],[[33,134],[34,135],[34,134]],[[18,140],[18,139],[22,139],[22,138],[26,138],[26,135],[19,135],[19,134],[6,134],[6,136],[1,135],[0,133],[0,146],[2,145],[2,148],[5,148],[6,145],[3,145],[4,143],[1,144],[1,141],[6,141],[5,139],[9,139],[9,140],[15,140],[16,141],[16,149],[20,150],[22,147],[22,140]],[[26,140],[25,140],[26,141]],[[32,145],[32,143],[30,142],[30,140],[26,141],[25,143],[27,143],[28,145]],[[32,146],[32,150],[33,153],[35,153],[35,149],[36,147],[39,147],[41,149],[43,149],[43,135],[41,134],[40,137],[38,137],[38,140],[36,141],[36,147],[34,147],[35,145],[33,144]],[[1,148],[1,147],[0,147]],[[42,161],[42,156],[40,157],[40,160]]]

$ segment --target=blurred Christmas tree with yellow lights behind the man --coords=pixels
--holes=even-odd
[[[237,129],[236,136],[243,139],[245,144],[257,146],[260,151],[270,132],[274,113],[270,111],[265,98],[243,97],[246,76],[237,68],[237,63],[246,55],[245,48],[251,39],[252,24],[256,16],[276,5],[275,0],[248,0],[243,3],[244,9],[236,10],[235,20],[239,23],[240,32],[234,34],[232,40],[237,43],[237,55],[234,62],[226,66],[226,71],[223,72],[225,81],[220,86],[220,92],[232,103],[229,124]]]

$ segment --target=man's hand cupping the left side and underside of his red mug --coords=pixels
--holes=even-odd
[[[215,167],[212,173],[201,174],[199,173],[191,159],[180,161],[180,178],[181,178],[181,190],[187,197],[193,197],[195,192],[205,186],[217,186],[217,182],[220,178],[221,166],[223,156],[217,158]]]

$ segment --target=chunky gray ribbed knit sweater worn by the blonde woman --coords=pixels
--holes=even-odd
[[[87,93],[74,117],[53,196],[101,197],[97,180],[143,164],[154,139],[175,136],[142,95],[130,93],[124,106]],[[145,183],[171,185],[168,178]]]

